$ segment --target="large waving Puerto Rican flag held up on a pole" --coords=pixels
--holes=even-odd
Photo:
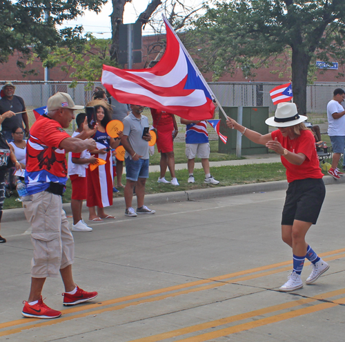
[[[121,103],[164,110],[188,120],[212,119],[215,98],[186,48],[166,24],[166,51],[153,67],[121,70],[103,65],[101,82]]]

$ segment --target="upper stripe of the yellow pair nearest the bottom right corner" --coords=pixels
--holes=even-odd
[[[308,303],[313,303],[313,302],[315,302],[317,300],[331,298],[333,296],[339,296],[340,294],[344,294],[344,293],[345,293],[345,288],[341,289],[341,290],[335,290],[335,291],[331,291],[331,292],[326,292],[324,294],[319,294],[319,295],[317,295],[317,296],[315,296],[313,298],[299,299],[297,301],[291,301],[291,302],[288,302],[288,303],[282,303],[282,304],[278,304],[278,305],[273,305],[273,306],[269,306],[268,308],[263,308],[263,309],[259,309],[259,310],[253,310],[253,311],[250,311],[250,312],[246,312],[244,314],[236,314],[235,316],[229,316],[229,317],[226,317],[226,318],[217,319],[215,321],[210,321],[210,322],[206,322],[206,323],[192,325],[192,326],[187,327],[187,328],[181,328],[181,329],[178,329],[178,330],[172,330],[170,332],[164,332],[162,334],[156,334],[156,335],[144,337],[142,339],[132,340],[130,342],[157,342],[157,341],[163,341],[164,339],[171,339],[172,337],[181,336],[181,335],[185,335],[185,334],[190,334],[191,332],[197,332],[199,330],[206,330],[206,329],[209,329],[209,328],[215,328],[215,327],[217,327],[219,325],[225,325],[225,324],[233,323],[233,322],[236,322],[236,321],[242,321],[244,319],[250,319],[252,317],[260,316],[262,314],[269,314],[269,313],[280,311],[280,310],[286,310],[286,309],[289,309],[289,308],[295,308],[296,306],[300,306],[300,305],[304,305],[304,304],[308,304]],[[182,340],[182,341],[184,341],[184,340]]]

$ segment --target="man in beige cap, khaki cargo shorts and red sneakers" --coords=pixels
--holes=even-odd
[[[90,301],[97,292],[81,290],[72,277],[74,241],[61,196],[67,181],[66,152],[95,150],[96,143],[88,139],[95,134],[84,125],[84,130],[71,138],[63,128],[68,128],[74,111],[83,106],[75,105],[69,94],[57,92],[48,99],[48,114],[43,114],[32,125],[26,148],[25,181],[30,201],[23,201],[26,218],[31,224],[31,241],[34,257],[31,264],[31,288],[28,301],[24,301],[23,316],[53,319],[61,312],[43,303],[41,292],[48,276],[61,274],[65,293],[63,305]]]

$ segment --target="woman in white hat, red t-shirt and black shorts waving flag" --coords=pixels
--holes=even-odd
[[[295,103],[284,102],[278,103],[275,116],[265,121],[278,129],[265,135],[249,130],[229,117],[226,121],[229,128],[235,128],[250,141],[266,145],[282,156],[288,180],[282,213],[282,239],[293,249],[293,272],[279,288],[283,292],[303,287],[301,272],[305,258],[313,264],[306,284],[316,281],[329,268],[305,241],[308,229],[317,221],[326,194],[315,139],[303,123],[306,119],[297,113]]]

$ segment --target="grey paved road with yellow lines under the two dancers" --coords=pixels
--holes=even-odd
[[[285,191],[253,189],[161,200],[152,203],[155,215],[137,218],[124,217],[116,202],[116,220],[74,233],[75,282],[99,296],[65,308],[61,279],[47,279],[43,298],[63,312],[54,320],[21,316],[30,288],[30,227],[7,220],[0,341],[344,341],[345,184],[326,185],[319,221],[307,235],[331,268],[291,293],[277,291],[292,266],[280,239]],[[310,272],[306,263],[302,279]]]

